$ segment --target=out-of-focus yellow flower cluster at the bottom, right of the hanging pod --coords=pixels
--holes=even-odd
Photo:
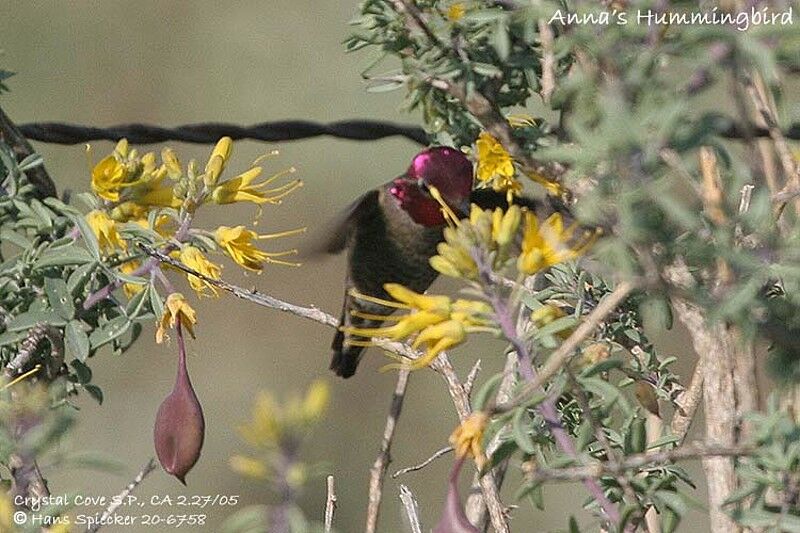
[[[252,446],[258,457],[236,454],[230,458],[231,468],[256,479],[269,477],[274,453],[282,445],[296,446],[325,414],[330,401],[330,388],[325,381],[311,384],[304,397],[293,396],[283,405],[272,394],[261,391],[253,404],[250,420],[238,426],[239,436]],[[302,470],[294,473],[301,481]],[[290,478],[293,476],[290,473]],[[290,479],[291,480],[291,479]]]

